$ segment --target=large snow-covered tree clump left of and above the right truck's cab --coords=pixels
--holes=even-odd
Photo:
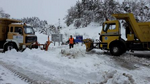
[[[102,23],[104,18],[112,18],[111,14],[120,13],[119,3],[114,0],[82,0],[71,7],[66,17],[67,26],[86,27],[91,22]]]

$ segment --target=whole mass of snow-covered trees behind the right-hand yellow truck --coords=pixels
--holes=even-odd
[[[86,27],[91,22],[102,24],[106,18],[113,20],[112,14],[133,13],[139,21],[150,20],[149,0],[124,0],[122,4],[116,0],[82,0],[68,10],[67,26]]]

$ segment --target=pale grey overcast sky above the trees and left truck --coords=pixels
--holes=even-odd
[[[76,1],[78,0],[0,0],[0,8],[10,14],[11,18],[36,16],[47,20],[49,24],[57,24],[59,18],[63,22],[67,10]]]

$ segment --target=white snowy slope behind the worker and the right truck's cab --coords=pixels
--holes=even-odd
[[[64,41],[68,40],[70,35],[73,35],[74,37],[77,35],[82,35],[84,39],[91,38],[93,40],[99,40],[99,33],[101,33],[101,30],[102,26],[99,26],[97,23],[91,23],[88,27],[78,29],[71,25],[70,27],[61,30],[61,33],[64,35]],[[121,34],[121,37],[126,40],[125,29],[123,27],[121,27]]]

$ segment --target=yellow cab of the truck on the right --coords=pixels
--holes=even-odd
[[[100,47],[109,49],[109,44],[114,40],[119,40],[121,36],[120,23],[117,20],[106,21],[103,23],[103,28],[100,33]]]

